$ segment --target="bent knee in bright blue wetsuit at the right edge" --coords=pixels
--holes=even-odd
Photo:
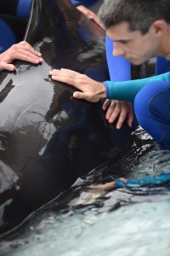
[[[136,117],[145,131],[170,149],[170,82],[155,81],[144,86],[134,100]]]

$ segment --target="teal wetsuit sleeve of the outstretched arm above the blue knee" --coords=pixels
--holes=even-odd
[[[153,81],[168,81],[170,72],[150,77],[147,79],[137,79],[122,82],[105,81],[106,97],[125,102],[133,102],[135,96],[146,84]]]

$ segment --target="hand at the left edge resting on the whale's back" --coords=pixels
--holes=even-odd
[[[15,67],[10,64],[14,60],[28,61],[33,64],[42,62],[41,53],[34,50],[26,41],[13,44],[0,55],[0,70],[14,71]]]

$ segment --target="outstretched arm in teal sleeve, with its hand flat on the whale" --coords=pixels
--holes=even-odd
[[[169,72],[147,79],[124,82],[105,81],[104,83],[97,82],[84,74],[70,69],[54,69],[49,74],[52,76],[52,79],[70,84],[81,90],[75,91],[73,96],[77,99],[87,100],[88,102],[99,102],[99,100],[104,98],[133,102],[136,94],[146,84],[156,80],[169,81],[170,79]]]

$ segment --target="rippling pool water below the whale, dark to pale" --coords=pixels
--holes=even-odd
[[[32,214],[17,232],[4,238],[0,253],[169,256],[170,153],[160,151],[141,129],[132,142],[131,152],[121,160],[79,178]],[[119,177],[127,178],[121,186],[91,186],[120,181]]]

